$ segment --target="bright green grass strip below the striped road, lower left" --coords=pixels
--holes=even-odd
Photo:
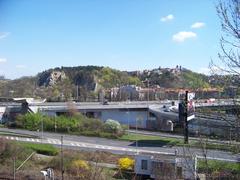
[[[34,144],[27,142],[19,142],[19,144],[25,148],[32,149],[39,154],[48,156],[55,156],[58,154],[58,149],[50,144]]]

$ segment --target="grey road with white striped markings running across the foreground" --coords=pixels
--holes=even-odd
[[[6,129],[0,128],[0,131],[12,132],[18,134],[28,134],[36,136],[37,138],[28,138],[28,137],[13,137],[5,136],[9,140],[17,141],[27,141],[32,143],[47,143],[59,146],[61,144],[60,137],[63,136],[63,146],[65,148],[71,149],[84,149],[84,150],[103,150],[109,151],[116,154],[129,154],[134,155],[136,153],[153,153],[153,154],[166,154],[174,155],[175,152],[178,152],[179,155],[197,155],[198,157],[203,157],[202,150],[197,148],[183,148],[183,147],[148,147],[141,146],[136,147],[135,143],[128,141],[119,141],[111,140],[98,137],[85,137],[85,136],[75,136],[59,133],[48,133],[44,132],[44,138],[41,137],[41,132],[19,130],[19,129]],[[240,162],[240,154],[232,154],[230,152],[217,151],[217,150],[208,150],[207,151],[208,159],[223,160],[223,161],[232,161]]]

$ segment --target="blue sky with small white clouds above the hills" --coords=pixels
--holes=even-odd
[[[0,0],[0,75],[97,65],[144,70],[218,61],[216,0]]]

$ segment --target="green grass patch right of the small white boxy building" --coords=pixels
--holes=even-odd
[[[209,171],[213,172],[230,172],[231,174],[240,175],[240,163],[217,161],[217,160],[208,160],[207,165],[204,160],[198,161],[198,172],[204,173]]]

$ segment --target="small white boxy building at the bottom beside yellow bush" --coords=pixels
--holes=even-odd
[[[141,154],[135,157],[135,173],[153,179],[195,179],[195,158],[176,154]]]

